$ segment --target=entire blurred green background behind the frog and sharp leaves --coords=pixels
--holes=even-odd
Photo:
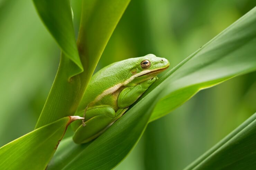
[[[82,0],[72,0],[74,28]],[[254,0],[131,0],[97,70],[154,53],[171,68],[255,7]],[[0,0],[0,146],[34,129],[60,49],[31,0]],[[182,169],[256,112],[256,73],[196,94],[149,123],[118,170]],[[66,137],[72,135],[68,130]]]

